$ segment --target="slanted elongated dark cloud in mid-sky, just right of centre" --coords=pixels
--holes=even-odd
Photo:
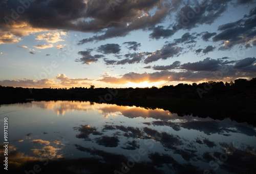
[[[157,50],[153,52],[151,55],[149,55],[145,60],[144,63],[151,63],[153,61],[157,61],[159,59],[167,59],[169,57],[174,57],[177,56],[182,48],[180,47],[175,47],[173,44],[167,44],[160,50]]]

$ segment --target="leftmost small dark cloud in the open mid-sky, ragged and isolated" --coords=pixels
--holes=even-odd
[[[97,62],[99,58],[104,57],[104,55],[91,55],[91,50],[87,51],[79,51],[78,54],[80,54],[82,57],[77,58],[75,61],[76,62],[82,62],[82,64],[90,64],[93,62]]]

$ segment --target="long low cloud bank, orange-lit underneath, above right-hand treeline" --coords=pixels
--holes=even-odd
[[[222,78],[230,77],[230,78],[241,78],[241,77],[254,77],[255,67],[256,65],[251,63],[254,58],[246,58],[240,61],[228,61],[226,57],[219,59],[211,59],[209,57],[205,58],[203,61],[198,61],[194,63],[184,63],[181,64],[179,69],[183,69],[186,71],[174,72],[163,70],[161,72],[154,73],[126,73],[122,75],[120,78],[117,77],[103,77],[98,79],[98,81],[103,81],[106,83],[114,83],[114,84],[126,84],[129,82],[139,83],[143,81],[148,82],[159,82],[159,81],[200,81],[201,79],[208,80],[220,80],[219,76],[217,76],[216,72],[224,71]],[[233,63],[244,64],[246,67],[238,66],[234,67]],[[160,67],[164,69],[165,67]],[[214,72],[214,73],[213,73]]]

